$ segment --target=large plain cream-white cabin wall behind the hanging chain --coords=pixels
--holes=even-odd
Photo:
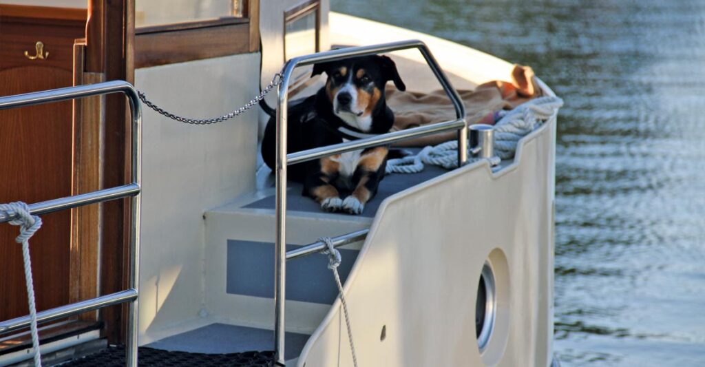
[[[259,53],[135,70],[135,86],[168,111],[206,118],[257,94]],[[142,128],[140,344],[199,318],[204,211],[255,189],[257,113],[200,126],[147,107]]]

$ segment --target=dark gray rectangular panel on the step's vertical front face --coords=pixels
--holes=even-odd
[[[287,245],[287,250],[300,246]],[[348,278],[359,251],[338,249],[343,261],[341,281]],[[226,292],[245,296],[274,297],[274,245],[271,242],[228,240]],[[328,268],[328,256],[313,254],[287,262],[286,299],[333,304],[338,288]]]

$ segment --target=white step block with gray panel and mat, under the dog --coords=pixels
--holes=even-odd
[[[287,249],[316,242],[321,236],[336,237],[367,229],[374,214],[396,192],[446,173],[427,167],[422,173],[388,175],[379,193],[360,216],[326,213],[302,185],[290,182],[287,195]],[[268,172],[258,180],[257,192],[205,213],[205,309],[208,316],[253,328],[274,325],[274,187]],[[350,273],[362,242],[340,248],[341,280]],[[287,263],[286,330],[312,333],[338,290],[328,268],[328,258],[312,254]]]

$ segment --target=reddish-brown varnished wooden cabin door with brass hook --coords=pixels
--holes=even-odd
[[[0,95],[71,86],[73,39],[82,37],[84,27],[78,11],[0,5]],[[46,60],[24,55],[25,50],[35,54],[37,41],[49,52]],[[0,146],[8,147],[0,163],[0,202],[31,204],[70,195],[72,138],[71,101],[0,111]],[[39,310],[66,304],[70,288],[71,213],[51,213],[42,220],[30,241]],[[0,320],[27,314],[17,231],[0,225],[0,294],[5,296]]]

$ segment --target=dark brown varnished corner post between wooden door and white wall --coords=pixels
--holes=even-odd
[[[134,0],[90,0],[91,20],[86,29],[87,71],[104,74],[105,80],[134,81],[133,65],[128,63],[133,53],[131,34],[134,32]],[[129,18],[129,19],[128,19]],[[132,127],[125,118],[127,104],[122,94],[109,94],[104,99],[104,144],[102,183],[104,187],[124,185],[130,173],[130,135]],[[100,254],[100,293],[108,294],[127,287],[130,240],[130,205],[127,200],[102,204]],[[113,306],[100,311],[105,323],[104,336],[111,343],[124,342],[123,325],[127,320]]]

